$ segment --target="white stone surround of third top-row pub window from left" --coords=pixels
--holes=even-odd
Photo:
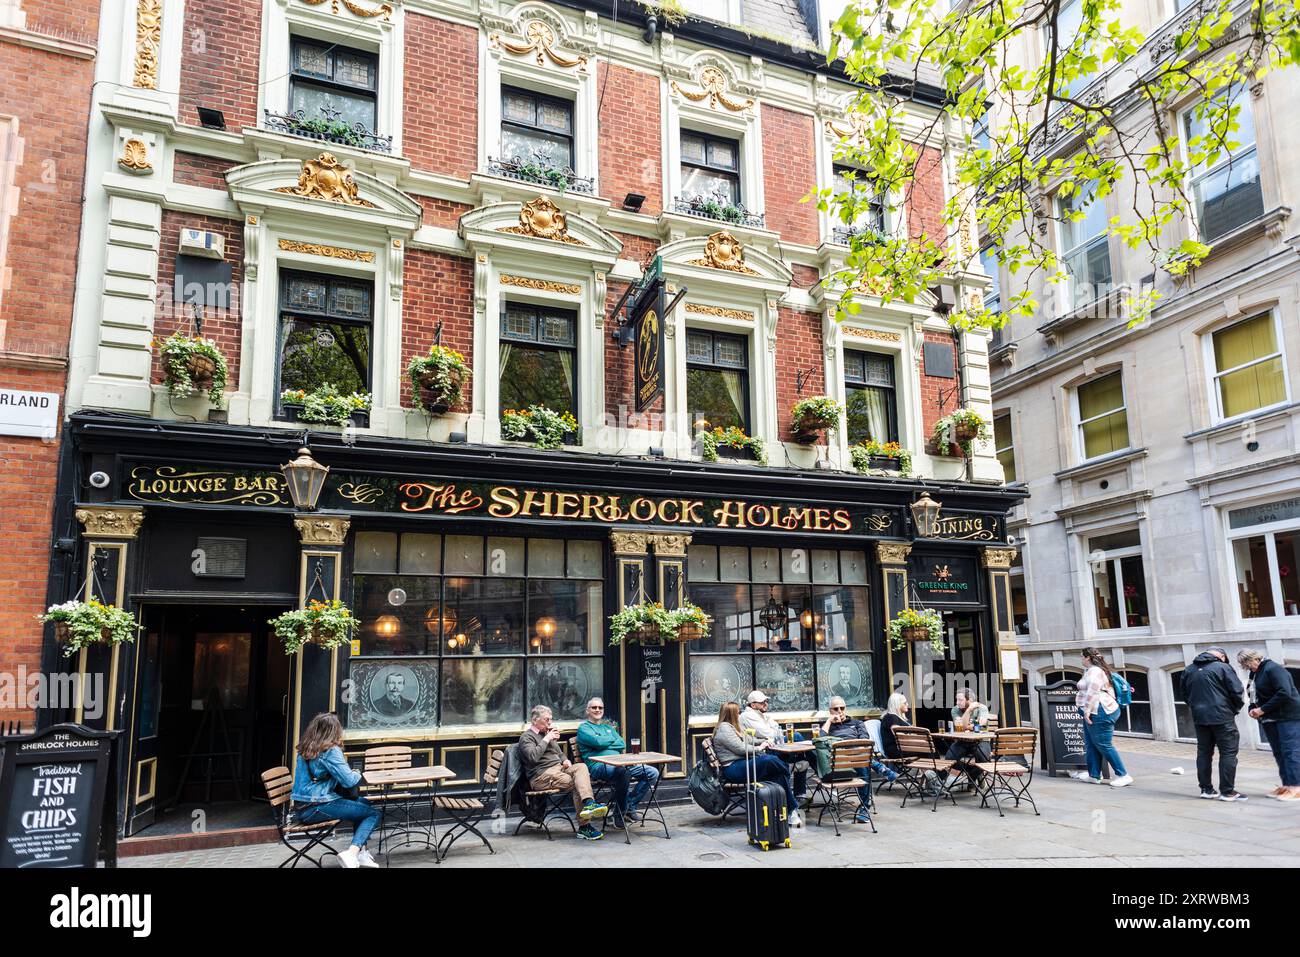
[[[712,55],[697,55],[693,57],[692,74],[698,77],[699,72],[708,66],[718,66],[728,77],[728,90],[734,88],[736,69]],[[692,79],[677,79],[677,83],[696,91],[699,85]],[[681,186],[681,130],[706,133],[714,137],[734,139],[740,144],[740,202],[750,213],[763,215],[767,208],[763,192],[763,130],[760,104],[753,103],[744,111],[729,111],[725,107],[711,108],[708,100],[693,103],[686,96],[672,90],[673,79],[666,83],[664,96],[664,127],[663,127],[663,182],[664,182],[664,208],[673,211],[676,200],[685,199]],[[736,100],[750,99],[738,91],[729,92]],[[712,220],[701,220],[712,222]],[[723,228],[727,224],[722,224]]]

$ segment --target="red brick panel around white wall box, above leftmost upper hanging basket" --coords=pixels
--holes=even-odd
[[[192,334],[190,325],[190,311],[173,302],[173,287],[176,283],[176,254],[181,239],[181,228],[204,229],[209,233],[220,233],[226,241],[226,261],[230,263],[231,299],[230,307],[218,309],[208,307],[203,311],[203,337],[213,339],[217,348],[226,358],[229,374],[226,377],[226,391],[234,391],[239,386],[239,341],[243,335],[243,322],[240,321],[240,296],[243,289],[243,224],[239,220],[218,220],[211,216],[195,216],[194,213],[162,212],[162,241],[159,244],[159,299],[157,312],[153,319],[153,338],[161,342],[168,335],[181,329]],[[162,381],[162,360],[157,350],[153,351],[152,376],[153,382]]]

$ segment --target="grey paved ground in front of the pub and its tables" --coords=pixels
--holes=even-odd
[[[909,801],[901,793],[878,798],[878,833],[842,823],[837,837],[829,819],[793,831],[790,849],[759,852],[746,845],[744,819],[719,826],[694,804],[666,809],[671,840],[633,828],[632,846],[610,830],[588,843],[559,824],[555,839],[528,826],[512,836],[485,833],[490,854],[472,836],[436,865],[428,850],[395,850],[391,867],[909,867],[949,865],[1017,867],[1296,867],[1300,866],[1300,802],[1266,797],[1277,787],[1277,766],[1266,753],[1243,754],[1238,789],[1249,801],[1197,798],[1193,746],[1165,741],[1117,741],[1135,783],[1110,788],[1048,778],[1035,771],[1031,793],[1040,815],[1022,805],[1000,818],[992,805],[958,796],[958,806]],[[1182,767],[1183,774],[1174,768]],[[815,820],[815,815],[812,815]],[[490,823],[490,822],[489,822]],[[337,841],[346,846],[346,837]],[[372,840],[373,846],[373,840]],[[122,867],[273,867],[286,857],[278,844],[187,850],[120,859]],[[382,858],[381,858],[382,859]],[[333,866],[328,858],[325,866]]]

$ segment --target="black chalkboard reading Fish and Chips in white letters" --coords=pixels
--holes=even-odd
[[[116,737],[56,724],[0,739],[0,867],[94,867],[101,850],[116,865]]]

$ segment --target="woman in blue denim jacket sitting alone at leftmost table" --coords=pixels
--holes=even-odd
[[[361,797],[361,772],[343,758],[343,726],[335,715],[312,718],[298,742],[294,767],[294,813],[304,824],[321,820],[352,823],[352,844],[338,856],[344,867],[378,867],[365,841],[380,823],[380,809]]]

